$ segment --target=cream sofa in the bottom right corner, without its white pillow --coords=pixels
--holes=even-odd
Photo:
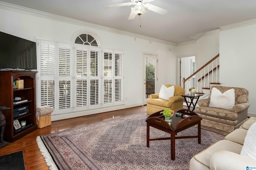
[[[226,135],[207,149],[194,155],[190,160],[190,170],[246,170],[247,166],[256,166],[256,160],[240,155],[244,139],[250,126],[256,122],[250,117],[239,129]]]

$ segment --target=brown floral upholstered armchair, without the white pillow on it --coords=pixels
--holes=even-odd
[[[223,109],[217,107],[209,107],[212,88],[218,89],[221,93],[227,90],[234,89],[235,91],[235,105],[232,109]],[[238,87],[225,87],[225,86],[212,86],[210,94],[207,99],[198,100],[198,107],[195,112],[202,117],[201,127],[227,135],[242,125],[247,119],[249,102],[249,92],[245,88]]]

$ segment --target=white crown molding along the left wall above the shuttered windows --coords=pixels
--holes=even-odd
[[[117,33],[117,34],[121,34],[121,35],[126,35],[126,36],[130,36],[130,37],[136,37],[136,38],[150,40],[150,41],[154,41],[154,42],[158,42],[158,43],[164,43],[164,44],[168,44],[168,45],[177,46],[177,43],[173,43],[173,42],[170,42],[170,41],[165,41],[165,40],[162,40],[162,39],[156,39],[156,38],[153,38],[153,37],[148,37],[148,36],[144,36],[144,35],[130,33],[130,32],[127,32],[127,31],[122,31],[122,30],[114,29],[114,28],[110,28],[110,27],[104,27],[102,25],[97,25],[97,24],[86,22],[86,21],[80,21],[80,20],[75,20],[75,19],[72,19],[72,18],[58,16],[58,15],[55,15],[55,14],[50,14],[50,13],[47,13],[47,12],[33,10],[33,9],[30,9],[30,8],[26,8],[26,7],[14,5],[14,4],[9,4],[9,3],[6,3],[6,2],[0,2],[0,8],[2,8],[4,10],[20,12],[20,13],[23,13],[23,14],[28,14],[28,15],[37,16],[37,17],[41,17],[41,18],[46,18],[46,19],[50,19],[50,20],[61,21],[61,22],[70,23],[70,24],[74,24],[74,25],[79,25],[79,26],[83,26],[83,27],[99,29],[99,30],[102,30],[102,31],[108,31],[108,32]]]

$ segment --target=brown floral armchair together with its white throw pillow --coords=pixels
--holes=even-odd
[[[212,86],[207,99],[198,100],[195,112],[201,128],[227,135],[247,119],[249,92],[245,88]]]

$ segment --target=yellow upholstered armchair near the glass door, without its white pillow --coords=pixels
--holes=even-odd
[[[156,111],[164,109],[172,109],[177,111],[183,109],[184,98],[181,95],[185,94],[185,89],[178,85],[166,84],[167,88],[174,86],[174,96],[170,97],[169,100],[159,99],[159,94],[150,94],[147,99],[147,113],[152,114]]]

